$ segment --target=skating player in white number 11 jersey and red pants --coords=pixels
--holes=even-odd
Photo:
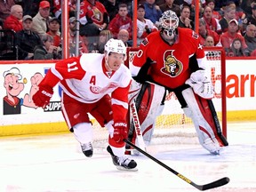
[[[127,138],[126,115],[131,72],[124,66],[126,47],[121,40],[110,39],[105,53],[84,53],[80,57],[60,60],[48,70],[33,96],[38,107],[49,104],[53,87],[62,88],[61,112],[70,132],[81,144],[85,156],[92,156],[91,114],[107,127],[108,152],[117,169],[136,171],[134,160],[124,155]]]

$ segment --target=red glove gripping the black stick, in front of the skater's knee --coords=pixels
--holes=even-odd
[[[116,122],[114,124],[113,140],[122,142],[127,138],[127,124],[125,122]]]

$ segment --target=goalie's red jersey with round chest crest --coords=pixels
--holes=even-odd
[[[155,62],[150,66],[148,75],[158,84],[174,89],[185,84],[189,78],[191,66],[188,63],[193,55],[196,54],[198,66],[192,68],[204,68],[204,50],[199,36],[189,28],[178,28],[179,36],[175,41],[179,44],[167,44],[160,33],[157,31],[148,35],[140,44],[140,51],[133,60],[133,65],[139,68],[132,69],[132,75],[137,76],[149,58]]]

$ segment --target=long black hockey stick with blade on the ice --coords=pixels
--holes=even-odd
[[[151,160],[155,161],[156,164],[160,164],[165,169],[167,169],[168,171],[170,171],[173,174],[175,174],[176,176],[178,176],[181,180],[185,180],[188,184],[192,185],[193,187],[195,187],[195,188],[197,188],[199,190],[207,190],[207,189],[210,189],[210,188],[219,188],[220,186],[226,185],[229,182],[229,178],[228,177],[224,177],[224,178],[221,178],[220,180],[215,180],[215,181],[213,181],[211,183],[208,183],[208,184],[197,185],[192,180],[189,180],[184,175],[180,174],[179,172],[176,172],[171,167],[167,166],[163,162],[161,162],[158,159],[156,159],[154,156],[150,156],[147,152],[143,151],[141,148],[133,145],[132,142],[130,142],[129,140],[125,140],[124,139],[124,142],[127,143],[128,145],[132,146],[132,148],[135,148],[136,150],[138,150],[144,156],[148,156],[148,158],[150,158]]]

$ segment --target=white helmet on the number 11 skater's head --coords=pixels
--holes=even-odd
[[[114,38],[109,39],[105,44],[105,52],[107,52],[107,55],[109,55],[110,52],[123,53],[124,60],[126,60],[126,46],[122,40]]]

